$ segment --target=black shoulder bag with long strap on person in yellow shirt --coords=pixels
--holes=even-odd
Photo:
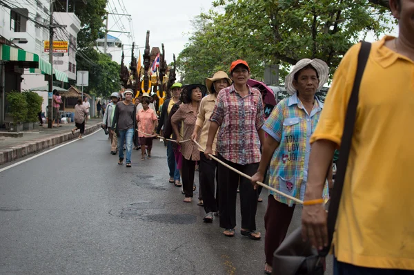
[[[352,136],[355,126],[355,117],[357,115],[357,105],[359,96],[359,86],[361,86],[362,75],[364,74],[366,61],[371,51],[371,44],[362,41],[361,49],[358,54],[357,73],[351,97],[346,109],[344,132],[341,140],[341,158],[337,164],[337,174],[331,200],[328,207],[328,246],[322,251],[317,251],[312,247],[309,241],[302,240],[302,228],[299,227],[293,231],[273,254],[273,275],[319,275],[324,274],[324,258],[331,249],[333,233],[335,231],[335,222],[337,219],[339,202],[344,187],[346,174],[346,164],[348,163],[349,151],[351,150]]]

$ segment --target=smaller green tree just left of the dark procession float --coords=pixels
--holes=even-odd
[[[98,53],[93,48],[79,51],[81,55],[76,57],[77,69],[89,71],[89,86],[83,87],[85,93],[109,97],[111,93],[121,89],[119,82],[121,66],[117,62],[112,61],[108,55]],[[83,56],[86,56],[87,59]]]

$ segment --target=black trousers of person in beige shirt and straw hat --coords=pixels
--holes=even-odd
[[[199,180],[200,190],[203,194],[204,211],[217,212],[218,210],[218,188],[215,188],[215,180],[218,182],[217,162],[208,160],[203,152],[200,152]]]

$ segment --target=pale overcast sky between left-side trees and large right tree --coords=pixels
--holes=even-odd
[[[133,32],[135,38],[135,55],[144,54],[146,31],[150,30],[150,48],[159,47],[164,43],[166,61],[172,62],[172,54],[177,58],[184,45],[188,42],[192,30],[191,20],[202,11],[207,12],[212,6],[210,0],[108,0],[107,10],[110,13],[131,15],[129,17],[109,15],[108,30]],[[132,26],[133,25],[133,26]],[[124,46],[125,63],[130,62],[132,37],[119,32],[108,32],[119,37]],[[131,35],[132,36],[132,35]],[[142,47],[141,49],[137,48]],[[112,52],[112,60],[120,63],[121,50]]]

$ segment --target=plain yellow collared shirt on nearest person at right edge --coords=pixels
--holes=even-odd
[[[333,245],[344,263],[414,270],[414,62],[388,39],[373,44],[362,77]],[[311,143],[340,145],[359,48],[342,59]]]

